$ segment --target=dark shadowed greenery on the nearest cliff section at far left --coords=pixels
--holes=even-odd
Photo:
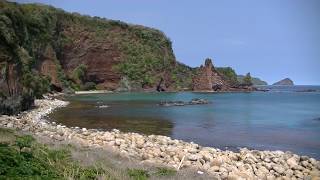
[[[50,8],[40,12],[33,11],[32,6],[23,7],[0,2],[0,67],[7,82],[5,93],[6,96],[27,93],[41,97],[50,90],[50,78],[35,69],[41,52],[48,45],[56,44],[50,29],[55,20]]]

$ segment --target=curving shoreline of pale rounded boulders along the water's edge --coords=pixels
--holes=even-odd
[[[217,179],[320,179],[320,161],[291,152],[240,149],[240,152],[202,147],[159,135],[98,131],[48,122],[45,116],[68,105],[55,98],[36,100],[36,108],[18,116],[0,116],[0,126],[31,132],[58,141],[113,149],[143,163],[208,172]]]

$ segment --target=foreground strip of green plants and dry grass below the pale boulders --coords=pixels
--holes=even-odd
[[[0,179],[134,179],[170,178],[167,168],[118,168],[97,162],[84,165],[72,156],[71,146],[48,147],[32,136],[0,128]]]

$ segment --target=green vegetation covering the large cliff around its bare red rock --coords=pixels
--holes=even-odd
[[[95,44],[111,44],[121,60],[112,68],[134,84],[154,87],[163,78],[177,82],[179,88],[190,85],[190,73],[186,67],[175,65],[171,41],[159,30],[71,14],[41,4],[0,1],[0,8],[0,80],[14,81],[8,82],[7,90],[2,92],[6,96],[27,92],[41,97],[50,91],[51,79],[39,73],[45,58],[56,64],[63,89],[81,89],[86,83],[87,67],[80,62],[65,74],[62,61],[65,47],[77,46],[83,32]],[[186,83],[181,74],[187,74]]]

